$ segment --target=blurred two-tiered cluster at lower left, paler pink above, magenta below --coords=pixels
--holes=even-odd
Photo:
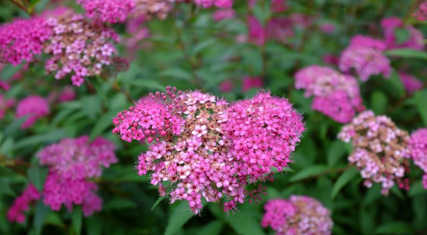
[[[37,154],[40,164],[49,166],[43,202],[54,211],[62,204],[70,211],[73,204],[82,205],[85,216],[100,211],[102,199],[95,194],[98,187],[89,178],[101,176],[102,166],[117,162],[114,149],[114,144],[104,138],[89,142],[88,136],[82,136],[63,139],[41,150]]]

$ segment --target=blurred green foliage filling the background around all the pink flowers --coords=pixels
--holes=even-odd
[[[362,185],[355,168],[348,167],[347,156],[351,146],[338,141],[342,127],[332,119],[311,109],[311,99],[294,89],[294,73],[298,69],[318,64],[326,65],[322,57],[339,55],[355,34],[381,37],[379,22],[384,17],[397,16],[407,24],[414,24],[424,34],[425,23],[411,18],[414,0],[287,0],[288,9],[279,15],[303,14],[311,23],[293,25],[294,36],[284,43],[267,41],[258,47],[238,43],[236,37],[247,35],[247,2],[234,3],[236,17],[214,22],[214,9],[197,8],[192,4],[177,4],[167,19],[144,23],[150,37],[138,43],[138,49],[129,50],[126,43],[117,45],[118,54],[129,60],[126,71],[109,72],[86,79],[74,89],[77,99],[53,103],[49,117],[37,125],[20,130],[23,118],[14,112],[6,113],[0,122],[0,233],[1,234],[272,234],[260,225],[263,204],[270,198],[286,198],[291,194],[305,194],[319,199],[332,211],[333,234],[427,234],[427,191],[421,185],[421,170],[414,168],[409,191],[392,188],[389,196],[380,195],[380,186]],[[82,13],[73,0],[63,2],[34,1],[34,11],[46,7],[67,5]],[[268,0],[259,0],[253,12],[265,24],[272,17]],[[276,13],[275,13],[276,14]],[[27,13],[7,0],[0,1],[0,21],[10,22]],[[333,24],[331,33],[320,30],[323,23]],[[112,27],[126,42],[132,35],[125,24]],[[403,32],[404,34],[404,32]],[[404,35],[402,36],[404,37]],[[399,52],[398,52],[399,53]],[[426,84],[426,52],[408,50],[391,55],[395,70],[405,68]],[[125,67],[127,67],[125,63]],[[5,93],[7,98],[19,100],[28,94],[49,96],[70,84],[68,79],[55,80],[45,73],[43,66],[4,66],[1,79],[8,80],[17,72],[22,78]],[[147,176],[138,176],[134,170],[136,157],[147,147],[140,143],[120,141],[111,134],[111,117],[132,105],[132,100],[165,86],[180,90],[198,89],[229,101],[250,97],[259,88],[242,91],[245,76],[261,77],[263,88],[273,94],[289,98],[304,115],[307,131],[297,146],[291,169],[275,174],[273,183],[266,182],[267,196],[261,204],[243,204],[239,211],[228,216],[217,204],[209,203],[201,216],[191,215],[186,204],[168,204],[159,199],[156,187],[148,184]],[[229,92],[221,92],[220,84],[231,81]],[[407,94],[394,71],[390,79],[371,77],[361,83],[365,106],[375,114],[386,114],[404,130],[412,131],[427,125],[427,89]],[[35,154],[47,144],[64,137],[89,135],[104,136],[118,147],[118,164],[105,169],[96,179],[103,198],[101,212],[83,218],[76,209],[68,212],[50,211],[43,203],[28,212],[24,224],[11,224],[4,216],[13,199],[28,182],[43,185],[47,169],[38,165]],[[19,164],[28,162],[29,164]]]

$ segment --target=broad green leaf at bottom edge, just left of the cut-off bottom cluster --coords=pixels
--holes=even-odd
[[[229,214],[225,218],[225,221],[230,225],[230,227],[234,229],[236,234],[264,235],[264,231],[261,229],[260,222],[253,213],[250,213],[250,211]]]

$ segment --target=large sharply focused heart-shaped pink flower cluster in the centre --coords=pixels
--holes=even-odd
[[[261,200],[262,188],[248,192],[245,186],[269,179],[271,167],[287,167],[304,130],[291,104],[269,93],[229,107],[211,94],[171,87],[142,98],[113,123],[122,140],[151,143],[138,157],[139,175],[151,172],[160,195],[171,203],[187,200],[194,213],[202,209],[202,196],[208,202],[226,196],[225,211],[247,195]]]

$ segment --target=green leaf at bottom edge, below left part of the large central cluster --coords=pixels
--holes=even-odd
[[[183,202],[179,204],[173,209],[169,221],[167,222],[164,235],[174,235],[192,216],[193,213],[189,210],[187,203]]]

